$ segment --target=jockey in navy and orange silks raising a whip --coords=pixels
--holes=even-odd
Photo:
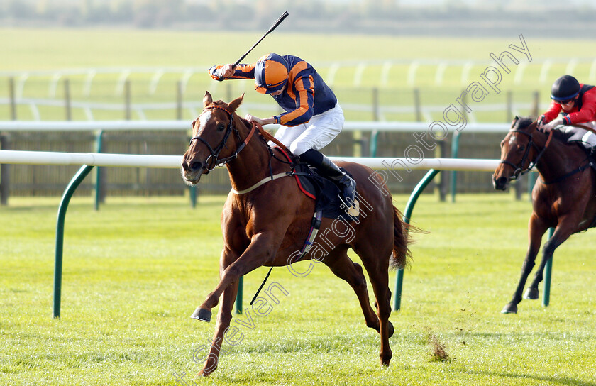
[[[216,80],[255,79],[260,94],[270,94],[285,110],[270,118],[248,114],[248,121],[279,123],[275,133],[301,162],[316,167],[342,192],[349,208],[354,202],[356,182],[318,150],[328,145],[343,128],[343,111],[333,91],[309,63],[292,55],[263,55],[251,65],[215,65],[209,74]]]

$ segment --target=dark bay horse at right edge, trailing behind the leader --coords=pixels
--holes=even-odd
[[[509,181],[534,166],[539,172],[532,189],[529,247],[522,275],[511,302],[501,311],[503,314],[517,312],[542,236],[548,228],[554,228],[553,236],[544,243],[541,263],[524,299],[538,299],[544,266],[555,249],[573,233],[595,226],[596,181],[590,160],[579,145],[559,139],[555,132],[545,133],[537,129],[536,122],[530,118],[515,117],[501,142],[501,162],[492,175],[495,189],[507,189]]]

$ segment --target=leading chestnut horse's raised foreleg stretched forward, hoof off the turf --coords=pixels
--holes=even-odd
[[[211,309],[217,305],[223,291],[231,283],[237,282],[241,276],[271,261],[275,257],[280,243],[281,237],[275,237],[268,233],[255,235],[244,253],[221,272],[218,285],[213,292],[207,295],[203,304],[197,307],[192,317],[202,321],[210,321]]]

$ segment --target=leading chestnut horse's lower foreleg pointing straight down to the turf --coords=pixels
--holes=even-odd
[[[199,375],[202,375],[203,377],[209,377],[209,374],[213,373],[217,368],[225,333],[232,320],[232,308],[237,293],[238,281],[233,282],[225,291],[223,291],[221,296],[221,307],[219,308],[219,313],[217,315],[217,323],[213,340],[211,341],[209,355],[202,358],[200,361],[200,363],[203,363],[203,369],[199,372]],[[199,362],[199,360],[197,360],[197,355],[194,355],[194,358],[196,362]]]

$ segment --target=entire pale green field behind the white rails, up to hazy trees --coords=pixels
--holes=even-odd
[[[527,58],[517,53],[509,45],[521,46],[519,34],[524,35],[532,62],[526,67]],[[206,68],[216,63],[233,62],[245,52],[260,36],[258,32],[189,32],[189,31],[133,31],[133,30],[32,30],[0,29],[0,72],[33,72],[64,70],[64,75],[55,78],[49,75],[31,73],[23,87],[23,96],[28,98],[53,99],[62,103],[65,78],[70,80],[70,94],[74,101],[111,103],[123,106],[124,96],[118,81],[126,68],[131,81],[131,95],[134,104],[150,104],[176,100],[176,82],[184,78],[184,71],[196,70],[189,77],[184,90],[184,101],[200,102],[205,90],[211,91],[218,99],[230,99],[246,92],[245,103],[253,104],[253,114],[273,114],[275,104],[266,97],[252,92],[250,81],[235,81],[226,84],[212,82],[206,75]],[[250,53],[246,62],[254,62],[263,53],[275,51],[298,55],[311,62],[326,79],[333,80],[333,89],[340,103],[346,107],[348,120],[370,120],[373,118],[373,88],[378,89],[377,101],[380,106],[414,106],[413,89],[420,92],[421,105],[435,106],[424,115],[424,120],[441,118],[442,110],[454,103],[462,89],[470,82],[479,81],[480,73],[487,66],[495,65],[490,53],[500,55],[504,50],[514,53],[519,60],[512,66],[510,74],[503,73],[497,94],[491,92],[485,101],[474,106],[477,121],[504,121],[507,92],[512,92],[512,103],[519,114],[529,114],[532,92],[541,92],[541,104],[546,108],[548,90],[556,77],[570,70],[583,82],[596,82],[596,67],[586,53],[596,49],[596,40],[544,40],[532,35],[531,31],[515,31],[509,38],[443,38],[443,37],[404,37],[388,35],[323,35],[317,33],[284,33],[276,31],[267,36],[263,43]],[[579,58],[576,65],[570,61]],[[543,68],[544,60],[551,65]],[[389,70],[385,62],[395,63]],[[424,60],[451,60],[441,70],[437,81],[438,63],[424,64]],[[419,62],[412,77],[412,62]],[[473,61],[471,67],[465,63]],[[336,68],[334,63],[341,66]],[[365,67],[359,65],[364,63]],[[86,89],[88,74],[68,75],[72,69],[106,69],[92,78],[92,86]],[[148,72],[134,69],[145,67]],[[159,67],[168,67],[159,77],[155,89],[152,82]],[[523,76],[517,79],[517,71]],[[546,74],[543,74],[543,70]],[[463,72],[467,75],[463,76]],[[383,75],[386,72],[385,75]],[[6,73],[5,73],[6,75]],[[0,77],[0,99],[8,96],[6,77]],[[517,80],[516,80],[517,79]],[[23,79],[17,75],[16,82]],[[55,81],[55,86],[52,84]],[[501,104],[502,111],[487,109],[490,104]],[[263,105],[255,106],[255,105]],[[358,108],[353,107],[358,105]],[[38,113],[31,111],[30,104],[18,107],[19,119],[34,119],[39,114],[42,119],[62,119],[64,108],[39,106]],[[82,108],[73,107],[73,119],[89,119]],[[142,115],[141,115],[142,114]],[[192,119],[192,109],[184,109],[184,119]],[[9,109],[0,108],[0,120],[9,118]],[[123,118],[121,109],[98,109],[94,119]],[[133,119],[175,118],[175,109],[170,106],[162,110],[133,111]],[[385,120],[414,121],[410,111],[387,111],[381,117]]]

